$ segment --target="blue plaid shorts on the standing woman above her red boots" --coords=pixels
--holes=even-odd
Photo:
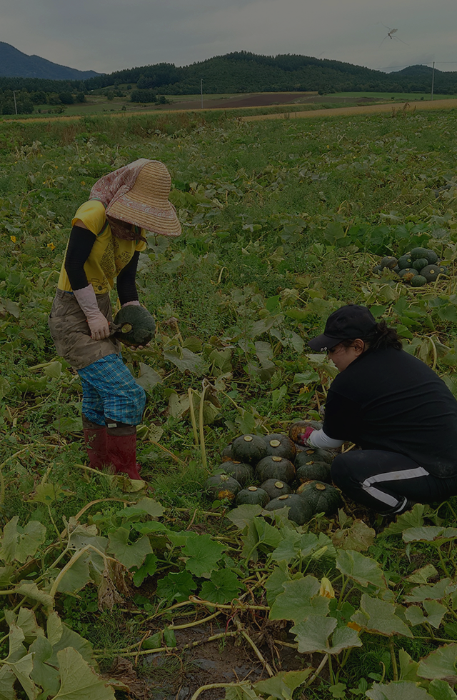
[[[136,384],[121,357],[106,355],[78,370],[83,385],[83,414],[92,423],[105,424],[105,419],[117,423],[141,423],[146,394]]]

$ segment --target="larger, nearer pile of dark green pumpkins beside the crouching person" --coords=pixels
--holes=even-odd
[[[293,436],[298,425],[291,428]],[[339,491],[331,486],[332,459],[330,451],[303,449],[286,435],[241,435],[224,449],[222,464],[204,490],[211,499],[236,506],[256,504],[266,511],[288,507],[288,519],[303,525],[341,505]]]

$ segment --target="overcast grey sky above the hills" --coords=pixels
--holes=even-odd
[[[0,20],[0,41],[81,71],[242,50],[457,70],[456,0],[1,0]]]

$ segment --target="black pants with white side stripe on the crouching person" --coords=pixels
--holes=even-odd
[[[333,460],[331,477],[350,499],[384,514],[401,513],[407,501],[433,503],[457,495],[457,474],[441,479],[397,452],[339,454]]]

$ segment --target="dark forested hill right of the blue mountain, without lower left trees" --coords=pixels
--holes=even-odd
[[[426,69],[426,66],[421,66]],[[431,69],[404,69],[386,74],[363,66],[315,59],[313,56],[283,54],[259,56],[238,51],[215,56],[190,66],[154,64],[104,74],[86,81],[87,89],[100,89],[121,83],[136,83],[139,90],[161,94],[195,94],[204,81],[208,93],[274,91],[392,91],[427,92],[431,88]],[[435,71],[435,91],[457,92],[457,73]]]

